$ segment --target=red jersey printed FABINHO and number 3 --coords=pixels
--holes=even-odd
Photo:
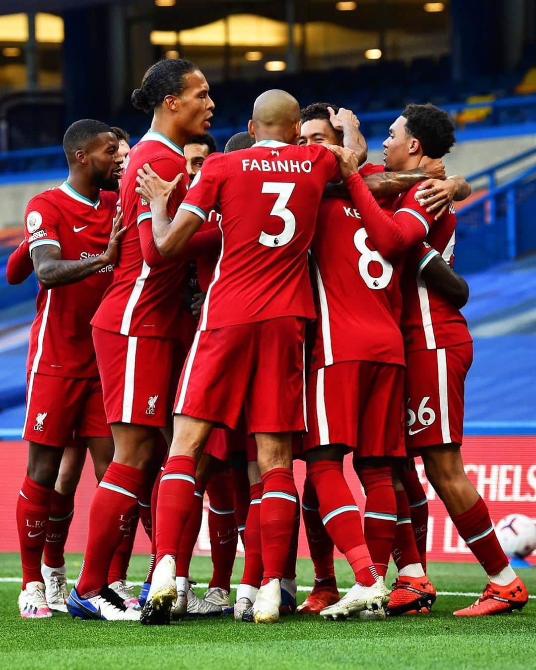
[[[180,206],[206,220],[218,202],[222,214],[200,330],[314,318],[307,251],[324,186],[338,180],[338,161],[322,145],[263,140],[206,159]]]

